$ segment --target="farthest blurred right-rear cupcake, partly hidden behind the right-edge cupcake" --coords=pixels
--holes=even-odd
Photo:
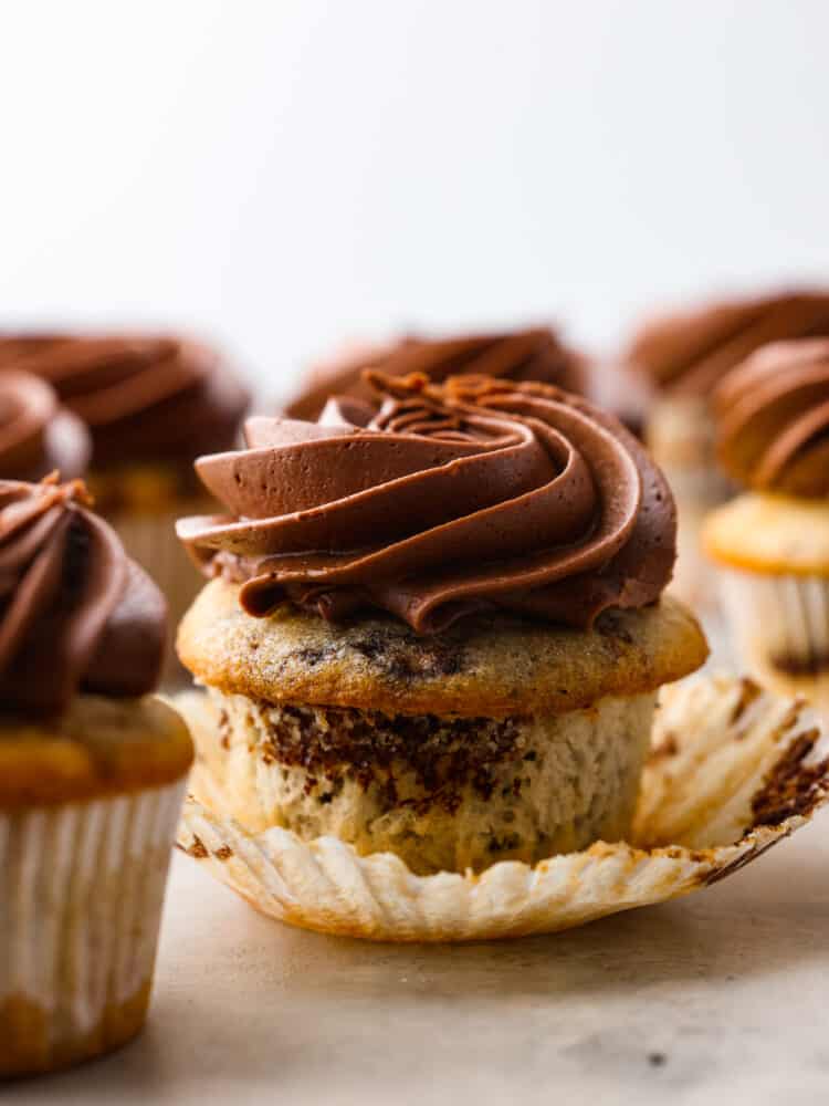
[[[646,440],[676,497],[675,587],[693,604],[711,601],[700,531],[732,493],[714,459],[711,395],[755,349],[780,338],[829,334],[829,293],[804,291],[730,300],[664,315],[633,337],[626,359],[654,390]]]

